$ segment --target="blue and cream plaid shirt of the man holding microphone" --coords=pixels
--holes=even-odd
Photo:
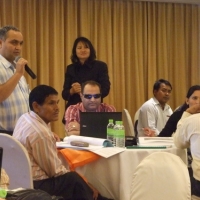
[[[7,82],[15,73],[15,67],[0,55],[0,84]],[[11,95],[0,103],[0,130],[13,131],[19,117],[29,111],[29,87],[24,76]]]

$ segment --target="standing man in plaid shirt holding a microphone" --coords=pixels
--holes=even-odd
[[[18,28],[0,29],[0,133],[10,135],[19,117],[29,111],[30,90],[23,76],[28,61],[19,57],[22,44]]]

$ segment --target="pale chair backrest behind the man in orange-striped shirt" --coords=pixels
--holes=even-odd
[[[3,148],[2,167],[10,179],[9,189],[33,188],[31,163],[24,146],[13,136],[0,133],[0,147]]]

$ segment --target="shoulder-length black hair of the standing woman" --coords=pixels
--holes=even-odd
[[[82,42],[83,44],[87,45],[90,49],[90,56],[89,58],[87,59],[87,61],[93,61],[96,59],[96,51],[92,45],[92,43],[90,42],[90,40],[88,40],[87,38],[85,37],[78,37],[75,41],[74,41],[74,45],[73,45],[73,48],[72,48],[72,55],[71,55],[71,61],[72,63],[77,63],[79,62],[79,59],[76,55],[76,47],[77,47],[77,44],[79,42]]]

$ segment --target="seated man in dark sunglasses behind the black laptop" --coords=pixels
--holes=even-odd
[[[80,135],[80,112],[116,112],[112,105],[101,103],[101,86],[95,81],[81,85],[81,103],[71,105],[65,112],[67,135]]]

